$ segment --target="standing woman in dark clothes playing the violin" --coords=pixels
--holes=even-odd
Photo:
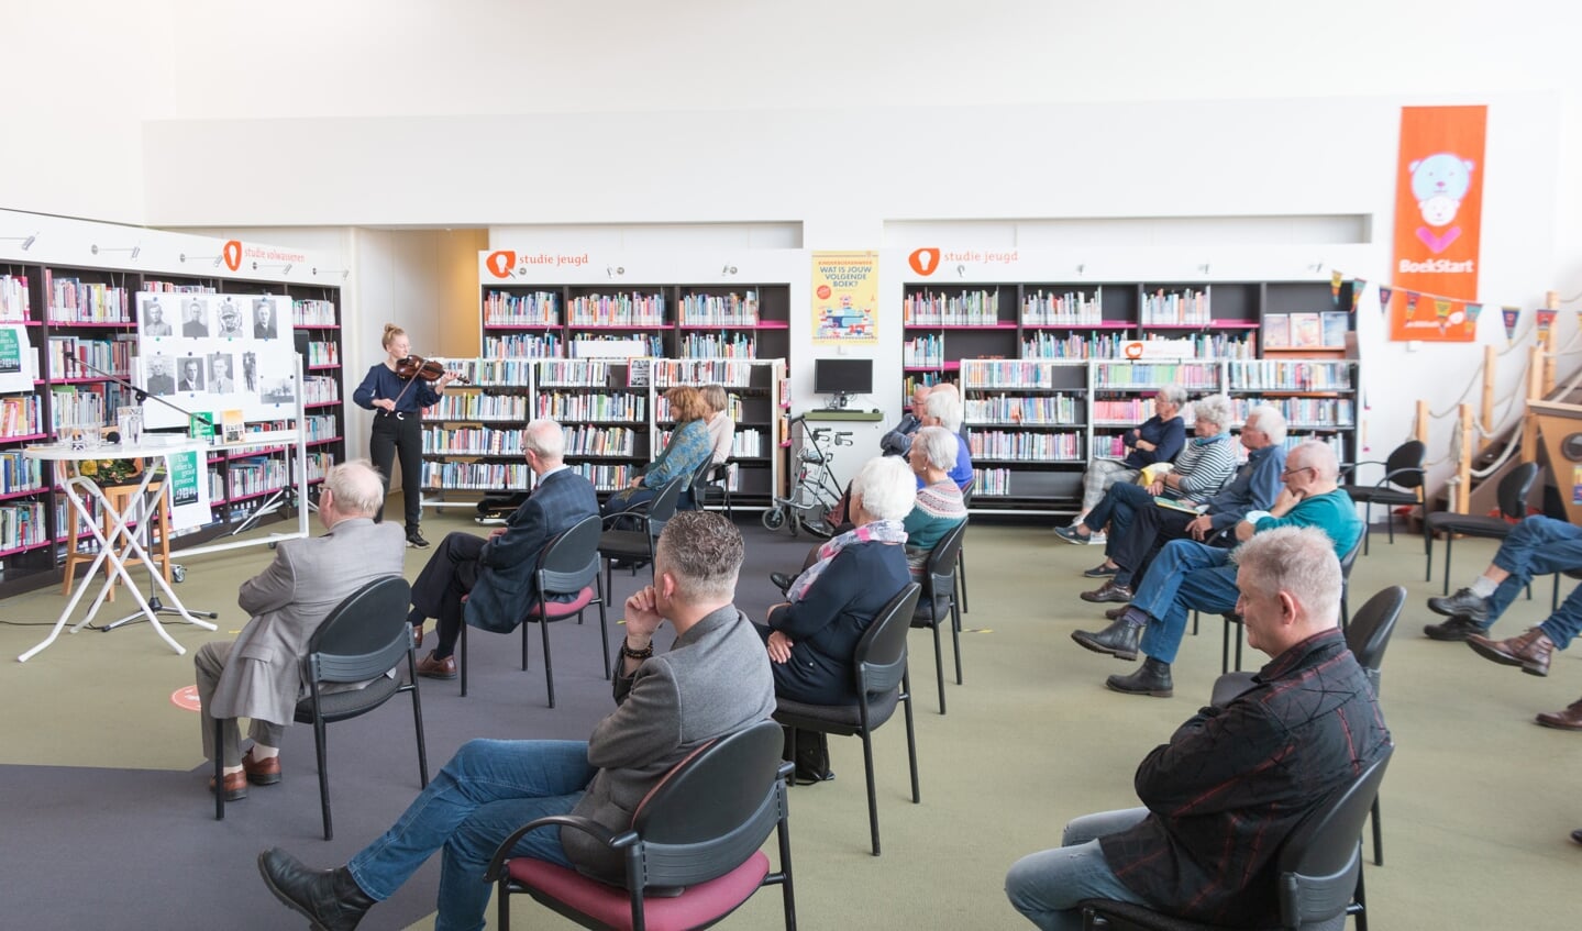
[[[384,479],[386,495],[391,488],[391,466],[400,457],[407,545],[422,548],[429,545],[418,533],[422,517],[422,409],[440,403],[440,392],[456,375],[441,371],[433,378],[429,367],[437,364],[413,359],[407,330],[396,324],[384,324],[383,346],[386,359],[369,368],[351,400],[359,408],[373,411],[369,458]],[[375,520],[383,518],[384,509],[380,507]]]

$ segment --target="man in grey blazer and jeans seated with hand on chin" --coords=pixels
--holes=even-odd
[[[579,814],[612,831],[631,827],[642,798],[710,740],[769,718],[774,678],[764,643],[731,604],[742,534],[718,514],[677,514],[660,534],[655,583],[626,599],[615,711],[587,743],[475,740],[429,782],[389,831],[337,869],[308,869],[271,849],[264,884],[315,928],[356,928],[440,847],[437,928],[481,928],[495,847],[535,817]],[[669,620],[676,643],[653,653]],[[514,849],[622,882],[622,858],[576,830],[532,831]]]

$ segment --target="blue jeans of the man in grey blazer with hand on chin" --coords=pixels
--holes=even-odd
[[[581,740],[468,741],[346,869],[362,891],[384,901],[443,846],[433,928],[478,931],[494,891],[484,869],[500,841],[536,817],[570,814],[596,771]],[[530,831],[513,852],[571,866],[558,828]]]

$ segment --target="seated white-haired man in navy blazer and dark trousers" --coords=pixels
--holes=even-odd
[[[522,430],[527,466],[538,484],[527,501],[489,539],[449,533],[411,586],[407,620],[422,639],[422,621],[438,618],[438,643],[418,662],[418,675],[456,678],[456,640],[465,620],[492,631],[513,631],[538,601],[538,556],[562,533],[598,515],[593,485],[566,468],[560,424],[539,419]],[[570,596],[565,596],[570,597]]]

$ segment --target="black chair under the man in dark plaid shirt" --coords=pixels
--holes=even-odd
[[[1280,928],[1289,931],[1337,931],[1353,915],[1357,931],[1367,931],[1367,898],[1362,888],[1362,822],[1378,795],[1389,765],[1386,749],[1362,775],[1335,792],[1324,808],[1315,811],[1280,846]],[[1084,928],[1111,931],[1221,931],[1215,925],[1188,922],[1147,906],[1087,899],[1082,906]]]

